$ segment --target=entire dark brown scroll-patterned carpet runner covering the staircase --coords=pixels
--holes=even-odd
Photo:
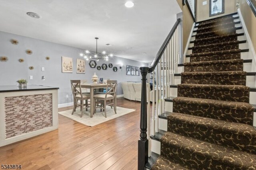
[[[254,108],[237,38],[232,16],[199,24],[152,170],[256,170]]]

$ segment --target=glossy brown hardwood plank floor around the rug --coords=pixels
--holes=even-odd
[[[0,164],[26,170],[136,170],[140,102],[119,99],[117,105],[136,111],[94,127],[58,115],[58,130],[0,147]]]

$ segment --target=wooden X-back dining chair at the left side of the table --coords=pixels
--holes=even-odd
[[[83,93],[82,88],[81,88],[81,80],[70,80],[71,83],[71,89],[74,97],[74,108],[72,111],[72,115],[76,111],[76,107],[80,106],[80,111],[81,115],[80,117],[83,116],[83,110],[84,106],[87,110],[89,108],[88,106],[88,99],[90,99],[90,94],[89,93]],[[80,101],[80,103],[78,103]],[[84,103],[85,101],[85,103]]]

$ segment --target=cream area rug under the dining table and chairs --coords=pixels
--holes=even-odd
[[[72,110],[62,111],[62,112],[59,112],[59,114],[65,117],[68,117],[70,119],[73,119],[75,121],[78,121],[84,125],[93,127],[100,123],[109,121],[111,119],[115,119],[117,117],[120,117],[122,115],[126,115],[127,113],[131,113],[135,111],[135,109],[126,109],[123,107],[116,107],[117,114],[115,114],[114,108],[111,109],[110,106],[107,106],[106,110],[107,110],[107,118],[105,118],[104,112],[100,112],[100,109],[97,109],[96,113],[94,113],[92,118],[90,118],[90,109],[88,109],[88,111],[85,111],[84,109],[82,118],[80,117],[81,115],[80,108],[77,108],[73,115],[71,115]]]

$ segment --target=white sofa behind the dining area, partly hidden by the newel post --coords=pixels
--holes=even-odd
[[[122,82],[121,86],[124,92],[124,98],[134,101],[141,101],[141,85],[142,83],[132,83],[132,82]],[[148,86],[147,86],[148,92]],[[148,94],[148,93],[147,93]],[[149,92],[150,101],[153,101],[153,91],[150,90]],[[155,98],[156,98],[156,91],[155,91]]]

